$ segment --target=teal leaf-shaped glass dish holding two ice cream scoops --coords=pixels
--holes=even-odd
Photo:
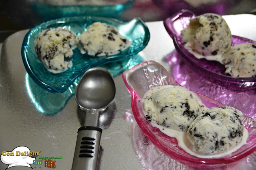
[[[103,22],[107,25],[117,27],[119,33],[132,42],[131,46],[120,53],[104,57],[92,57],[87,54],[83,55],[80,53],[79,49],[76,48],[73,50],[73,57],[71,57],[73,67],[58,74],[51,73],[38,61],[34,49],[34,40],[42,30],[62,27],[72,30],[79,36],[94,22]],[[139,53],[139,51],[145,48],[149,42],[149,38],[149,30],[140,18],[134,18],[129,22],[120,22],[111,18],[90,16],[62,18],[44,22],[32,28],[24,38],[21,54],[26,71],[40,87],[52,93],[62,93],[69,88],[75,79],[83,75],[87,69],[111,61],[125,59]]]

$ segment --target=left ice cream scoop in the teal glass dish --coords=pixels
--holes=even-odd
[[[75,33],[61,27],[42,30],[34,41],[38,60],[53,73],[66,71],[73,65],[71,47],[75,39]]]

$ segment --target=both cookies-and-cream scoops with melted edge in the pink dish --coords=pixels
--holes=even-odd
[[[145,119],[179,147],[200,158],[226,156],[246,144],[248,130],[241,111],[229,107],[207,108],[195,93],[164,85],[147,91],[142,100]]]

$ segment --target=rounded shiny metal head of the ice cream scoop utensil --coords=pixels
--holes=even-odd
[[[115,98],[115,82],[109,71],[93,67],[80,79],[75,98],[82,110],[104,109]]]

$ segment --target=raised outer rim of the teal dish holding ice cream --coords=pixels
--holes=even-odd
[[[62,87],[65,87],[64,90],[55,88],[51,85],[48,85],[48,84],[44,83],[44,81],[41,81],[40,79],[38,79],[38,77],[36,76],[35,70],[31,68],[31,64],[30,64],[30,61],[29,61],[29,58],[28,58],[28,53],[27,53],[27,48],[29,46],[28,45],[28,40],[29,40],[30,36],[32,35],[32,32],[34,30],[36,30],[37,28],[40,28],[42,26],[47,27],[49,24],[54,24],[54,23],[57,23],[57,22],[76,22],[79,19],[84,19],[84,20],[86,20],[86,19],[87,20],[88,19],[89,20],[95,19],[95,20],[101,20],[101,21],[105,21],[105,22],[114,22],[114,23],[117,23],[117,24],[120,24],[120,25],[125,25],[125,23],[129,23],[129,22],[135,20],[135,21],[138,21],[139,23],[141,23],[141,26],[143,27],[143,30],[145,31],[146,41],[143,42],[143,44],[145,44],[145,45],[143,46],[143,48],[140,49],[140,51],[142,51],[147,46],[147,44],[150,40],[149,29],[147,28],[147,25],[145,24],[145,22],[143,22],[143,20],[139,17],[135,17],[135,18],[133,18],[133,19],[127,21],[127,22],[123,22],[123,21],[120,21],[120,20],[115,19],[115,18],[107,18],[107,17],[101,17],[101,16],[74,16],[74,17],[58,18],[58,19],[49,20],[47,22],[43,22],[41,24],[38,24],[37,26],[31,28],[27,32],[27,34],[25,35],[24,40],[22,42],[22,47],[21,47],[21,57],[22,57],[22,61],[24,63],[24,67],[25,67],[26,71],[28,72],[28,75],[30,75],[30,77],[33,79],[34,82],[36,82],[36,84],[38,84],[40,87],[42,87],[43,89],[45,89],[45,90],[47,90],[51,93],[63,93],[63,92],[65,92],[69,88],[69,86],[72,85],[72,83],[78,77],[81,77],[83,75],[83,73],[86,70],[82,71],[79,75],[76,75],[68,84],[62,85]],[[40,30],[42,30],[42,29],[40,29]],[[34,47],[32,47],[32,48],[34,48]],[[111,61],[117,61],[119,59],[125,59],[125,58],[133,56],[133,55],[135,55],[135,53],[133,53],[133,54],[122,53],[121,55],[120,55],[120,53],[117,53],[115,55],[109,55],[108,57],[105,57],[105,56],[99,57],[99,58],[103,58],[103,60],[101,62],[97,63],[96,65],[94,65],[93,67],[97,67],[101,64],[109,63]]]

